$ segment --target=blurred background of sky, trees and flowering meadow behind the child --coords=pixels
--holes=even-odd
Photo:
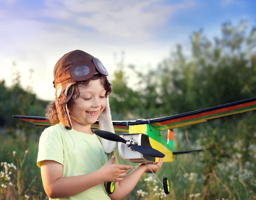
[[[0,199],[47,198],[36,166],[44,127],[12,115],[45,115],[62,55],[81,49],[102,61],[113,120],[248,99],[256,96],[255,8],[254,0],[0,0]],[[256,199],[255,111],[173,131],[175,151],[204,152],[164,163],[167,196],[144,174],[126,200]]]

